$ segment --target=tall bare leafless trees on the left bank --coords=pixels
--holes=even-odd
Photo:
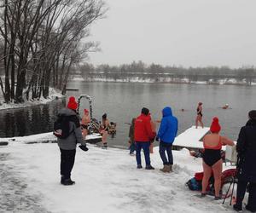
[[[47,98],[49,87],[64,94],[72,67],[97,50],[89,30],[105,12],[101,0],[1,0],[4,101]]]

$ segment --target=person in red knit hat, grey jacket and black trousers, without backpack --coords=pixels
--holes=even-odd
[[[81,143],[81,148],[86,147],[80,127],[79,116],[76,112],[77,107],[78,103],[75,101],[75,98],[71,96],[67,107],[61,109],[58,113],[58,116],[68,117],[69,119],[69,135],[65,139],[57,139],[61,151],[62,185],[73,185],[75,183],[75,181],[71,180],[71,171],[75,161],[77,143]]]

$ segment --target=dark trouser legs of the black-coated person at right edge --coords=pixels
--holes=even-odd
[[[238,181],[236,192],[236,204],[242,204],[242,200],[247,191],[247,184],[247,181]],[[249,183],[248,193],[249,197],[247,207],[249,207],[251,210],[256,210],[256,183]]]

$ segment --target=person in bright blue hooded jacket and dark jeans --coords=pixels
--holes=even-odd
[[[165,107],[162,110],[163,118],[161,119],[160,129],[156,136],[156,141],[160,140],[159,153],[163,161],[163,172],[172,171],[172,143],[177,135],[177,118],[172,116],[172,108]],[[167,153],[167,158],[166,158]]]

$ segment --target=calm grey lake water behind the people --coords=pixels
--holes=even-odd
[[[256,88],[236,85],[198,85],[170,83],[86,83],[71,82],[68,87],[78,87],[79,92],[68,91],[79,97],[92,97],[93,117],[102,118],[108,114],[110,121],[117,123],[117,135],[108,144],[112,147],[127,147],[131,118],[137,117],[142,107],[148,107],[153,119],[161,118],[163,107],[172,107],[178,119],[178,132],[195,124],[196,107],[203,102],[203,122],[209,126],[212,117],[218,116],[222,135],[236,140],[239,130],[247,121],[247,112],[256,109]],[[221,107],[228,103],[230,109]],[[0,112],[0,136],[32,135],[52,130],[55,114],[65,106],[65,100],[53,101],[26,109],[12,109]],[[85,99],[82,109],[88,108]],[[184,109],[184,112],[181,111]]]

